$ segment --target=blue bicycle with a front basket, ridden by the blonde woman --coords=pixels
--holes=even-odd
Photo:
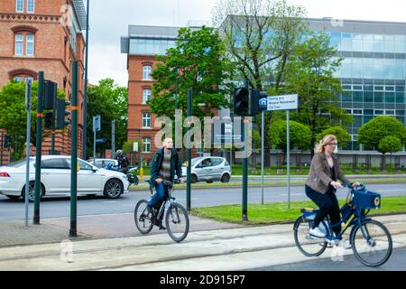
[[[320,256],[335,239],[342,238],[346,229],[353,226],[349,235],[349,243],[356,258],[365,266],[382,266],[392,254],[392,237],[389,230],[381,223],[370,217],[372,209],[381,208],[381,195],[367,191],[363,184],[348,188],[346,203],[341,208],[343,228],[338,236],[333,235],[328,218],[318,226],[326,233],[325,238],[317,238],[309,234],[309,228],[318,209],[302,209],[301,216],[293,226],[295,244],[305,256]]]

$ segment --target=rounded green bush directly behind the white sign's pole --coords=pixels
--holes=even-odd
[[[286,120],[278,120],[272,122],[268,128],[268,136],[270,144],[286,152]],[[296,121],[289,121],[289,143],[291,149],[306,149],[309,147],[311,132],[309,126],[302,125]]]

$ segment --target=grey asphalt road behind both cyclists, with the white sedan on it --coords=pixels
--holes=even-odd
[[[405,184],[371,184],[370,191],[380,192],[383,196],[405,195]],[[347,189],[339,189],[338,198],[346,198]],[[186,191],[178,190],[173,193],[178,202],[186,204]],[[78,216],[114,214],[132,212],[138,200],[149,199],[149,191],[132,191],[117,200],[106,200],[101,196],[79,197]],[[248,203],[261,203],[261,188],[248,189]],[[267,187],[263,193],[264,202],[288,201],[288,190],[284,187]],[[291,200],[308,200],[302,186],[291,187]],[[191,191],[191,207],[206,207],[224,204],[242,203],[241,188],[195,189]],[[33,204],[30,203],[29,215],[32,218]],[[41,218],[58,218],[70,216],[69,197],[46,197],[41,202]],[[9,200],[0,196],[0,220],[23,219],[23,200]]]

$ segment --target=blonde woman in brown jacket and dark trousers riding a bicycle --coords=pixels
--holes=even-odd
[[[341,231],[340,208],[336,196],[337,188],[342,188],[340,182],[350,183],[346,176],[341,172],[337,156],[334,154],[337,148],[337,137],[335,135],[326,135],[317,146],[317,154],[311,160],[310,172],[305,184],[306,195],[318,205],[318,212],[314,219],[309,234],[318,237],[326,237],[326,232],[318,228],[319,223],[329,216],[331,227],[336,236]],[[342,247],[349,247],[341,239],[339,241]]]

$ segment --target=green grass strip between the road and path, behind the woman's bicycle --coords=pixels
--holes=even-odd
[[[339,200],[340,205],[345,200]],[[291,210],[288,210],[287,202],[272,202],[265,204],[248,204],[248,221],[246,225],[264,225],[281,222],[291,222],[300,216],[302,208],[317,208],[311,201],[292,201]],[[382,199],[380,210],[371,210],[370,215],[382,215],[388,213],[406,213],[406,196],[386,197]],[[216,219],[223,222],[243,223],[241,220],[242,207],[239,205],[226,205],[205,207],[190,211],[193,216]]]

